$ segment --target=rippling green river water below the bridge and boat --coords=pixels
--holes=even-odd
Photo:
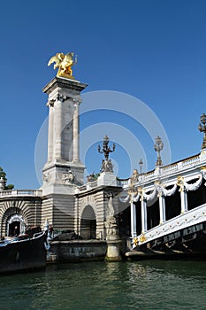
[[[206,262],[59,264],[0,277],[0,309],[206,309]]]

